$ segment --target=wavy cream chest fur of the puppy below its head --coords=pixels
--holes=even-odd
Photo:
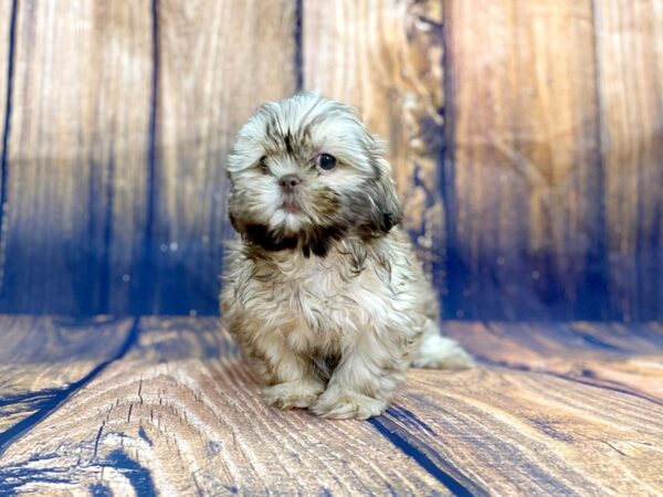
[[[284,252],[252,265],[235,283],[243,311],[264,322],[262,334],[278,335],[293,349],[339,351],[364,332],[409,335],[422,325],[407,263],[368,255],[358,265],[357,254],[341,247],[326,257]]]

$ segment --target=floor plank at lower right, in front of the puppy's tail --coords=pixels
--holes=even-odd
[[[660,495],[663,406],[545,373],[412,371],[373,420],[473,493]]]

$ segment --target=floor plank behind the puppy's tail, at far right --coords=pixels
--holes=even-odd
[[[661,324],[446,322],[444,330],[484,363],[663,401]]]

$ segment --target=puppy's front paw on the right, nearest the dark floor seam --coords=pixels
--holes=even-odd
[[[356,417],[367,420],[379,416],[387,409],[387,402],[364,395],[351,390],[330,389],[320,395],[309,409],[311,412],[323,417],[347,420]]]

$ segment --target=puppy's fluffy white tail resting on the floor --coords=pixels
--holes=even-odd
[[[429,320],[412,366],[414,368],[457,370],[472,368],[474,359],[457,341],[441,336],[438,326]]]

